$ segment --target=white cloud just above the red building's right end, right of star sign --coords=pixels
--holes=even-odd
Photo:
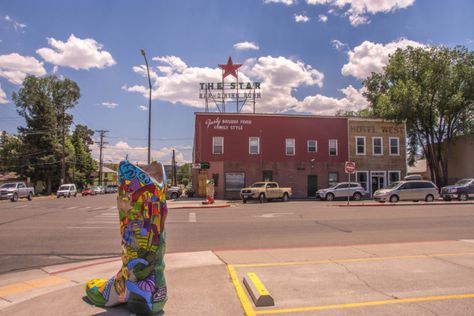
[[[362,95],[364,88],[356,89],[352,85],[340,90],[342,98],[333,98],[316,94],[308,96],[294,110],[319,115],[334,115],[337,111],[357,111],[366,108],[369,103]]]

